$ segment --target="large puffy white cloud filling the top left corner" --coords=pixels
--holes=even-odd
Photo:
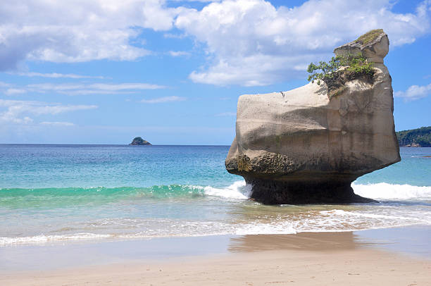
[[[150,54],[131,44],[142,28],[170,30],[180,11],[165,0],[2,1],[0,70],[25,60],[134,60]]]

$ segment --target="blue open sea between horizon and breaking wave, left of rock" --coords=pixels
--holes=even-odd
[[[225,146],[0,145],[3,188],[212,185],[225,172]]]

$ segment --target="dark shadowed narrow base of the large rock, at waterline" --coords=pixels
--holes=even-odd
[[[352,204],[377,202],[354,193],[351,182],[283,182],[246,178],[251,199],[262,204]]]

